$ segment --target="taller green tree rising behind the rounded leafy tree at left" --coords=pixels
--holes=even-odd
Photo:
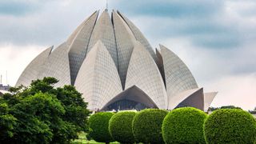
[[[43,78],[31,83],[30,90],[26,94],[36,94],[38,92],[44,92],[48,94],[54,94],[66,111],[62,115],[62,119],[68,126],[67,130],[56,131],[54,134],[53,142],[62,142],[64,139],[78,138],[79,131],[88,131],[87,117],[90,111],[87,110],[87,103],[83,101],[82,94],[75,90],[74,86],[63,86],[54,88],[54,84],[57,83],[56,78]]]

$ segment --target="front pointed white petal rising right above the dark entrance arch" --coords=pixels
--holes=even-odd
[[[140,42],[134,46],[126,75],[126,89],[138,86],[158,106],[167,108],[167,94],[158,66]]]

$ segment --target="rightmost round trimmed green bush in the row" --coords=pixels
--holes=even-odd
[[[207,143],[254,143],[256,121],[254,117],[239,109],[215,110],[204,123]]]

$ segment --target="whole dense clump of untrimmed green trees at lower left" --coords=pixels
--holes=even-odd
[[[88,131],[82,94],[74,86],[54,88],[57,82],[43,78],[10,88],[12,94],[0,98],[2,143],[66,143]]]

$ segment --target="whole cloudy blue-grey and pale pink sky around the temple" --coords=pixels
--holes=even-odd
[[[22,70],[49,46],[57,47],[106,0],[1,0],[0,74],[14,86]],[[108,0],[146,36],[178,54],[211,106],[256,106],[256,1]],[[7,71],[7,78],[6,78]]]

